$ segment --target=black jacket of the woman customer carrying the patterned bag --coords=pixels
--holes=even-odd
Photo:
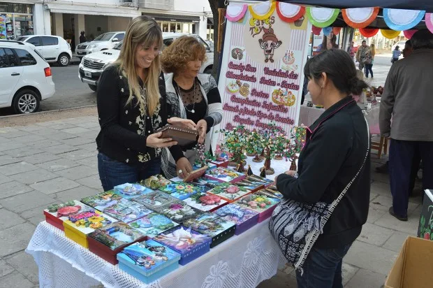
[[[369,133],[364,115],[351,96],[328,108],[309,127],[298,160],[298,179],[286,174],[277,178],[286,199],[304,203],[332,203],[351,182],[365,159]],[[335,248],[352,243],[368,216],[370,158],[346,195],[337,205],[315,244]]]

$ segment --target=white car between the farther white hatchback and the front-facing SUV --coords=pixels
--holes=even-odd
[[[94,41],[78,44],[77,48],[75,48],[75,53],[78,57],[83,57],[94,52],[112,49],[117,43],[124,40],[124,36],[124,31],[101,34]]]

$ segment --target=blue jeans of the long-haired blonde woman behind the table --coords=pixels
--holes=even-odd
[[[161,157],[154,158],[144,166],[132,166],[98,153],[98,172],[104,191],[126,182],[135,183],[161,173]]]

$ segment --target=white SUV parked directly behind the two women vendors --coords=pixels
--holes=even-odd
[[[214,52],[200,36],[196,34],[163,32],[163,48],[173,43],[176,38],[184,35],[196,37],[197,40],[206,48],[207,60],[201,66],[199,73],[212,73],[212,67],[214,65]],[[101,77],[101,73],[104,71],[106,66],[117,60],[121,49],[122,42],[118,43],[113,49],[94,52],[91,55],[83,57],[81,59],[80,65],[78,66],[78,77],[80,78],[81,82],[87,83],[90,89],[96,92],[96,87],[98,85],[99,77]]]

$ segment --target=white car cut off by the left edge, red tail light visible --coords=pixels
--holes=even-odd
[[[51,68],[34,45],[0,40],[0,108],[34,113],[54,94]],[[7,83],[7,84],[6,84]]]

